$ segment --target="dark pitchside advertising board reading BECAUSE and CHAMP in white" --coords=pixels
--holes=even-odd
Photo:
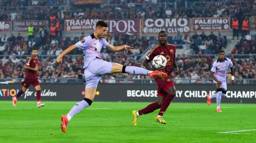
[[[21,88],[21,84],[1,84],[0,101],[12,100]],[[84,98],[83,84],[42,84],[43,101],[80,101]],[[215,94],[212,84],[175,84],[176,97],[172,102],[206,103],[207,94]],[[114,90],[111,90],[114,89]],[[94,101],[133,101],[156,102],[156,84],[99,84]],[[30,86],[19,100],[36,101],[36,91]],[[216,99],[214,99],[216,101]],[[228,85],[226,97],[222,103],[256,103],[255,84]]]

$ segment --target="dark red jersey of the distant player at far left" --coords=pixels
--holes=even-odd
[[[38,67],[38,64],[39,64],[39,59],[36,57],[30,57],[29,59],[27,59],[27,62],[26,62],[26,66],[29,66],[31,68]],[[27,69],[25,78],[26,79],[37,79],[37,72],[38,71],[33,71],[30,69]]]

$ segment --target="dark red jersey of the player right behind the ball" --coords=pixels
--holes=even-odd
[[[161,69],[160,71],[165,72],[166,74],[171,74],[171,70],[173,68],[173,62],[175,59],[175,45],[171,45],[171,44],[167,44],[166,47],[163,47],[160,44],[157,44],[150,52],[149,54],[147,54],[146,59],[150,61],[152,61],[154,59],[155,56],[157,55],[162,55],[164,57],[166,57],[167,59],[167,64],[166,67],[164,67],[164,69]]]

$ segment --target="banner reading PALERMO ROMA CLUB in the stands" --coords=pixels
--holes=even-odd
[[[193,31],[229,31],[229,17],[195,17],[193,18]]]

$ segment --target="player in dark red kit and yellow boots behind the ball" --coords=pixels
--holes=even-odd
[[[147,56],[143,62],[143,65],[148,70],[154,71],[154,69],[152,69],[148,63],[150,61],[152,61],[152,59],[155,56],[162,55],[162,56],[166,57],[167,64],[166,64],[166,67],[164,67],[164,69],[161,70],[161,72],[165,72],[166,74],[168,74],[168,76],[164,79],[161,79],[161,78],[155,79],[157,86],[158,86],[157,87],[157,96],[158,96],[157,102],[149,104],[144,109],[141,109],[138,111],[132,111],[132,115],[133,115],[132,123],[134,126],[137,125],[137,119],[140,115],[151,113],[159,108],[160,108],[160,111],[159,111],[158,115],[156,116],[155,121],[162,123],[162,124],[166,124],[166,121],[164,121],[164,119],[163,119],[164,111],[166,111],[166,109],[168,108],[168,106],[171,103],[171,100],[176,95],[176,89],[174,87],[173,81],[171,80],[171,76],[170,76],[173,66],[175,67],[174,74],[178,74],[178,72],[179,72],[178,65],[175,60],[175,51],[176,51],[175,47],[176,46],[167,43],[168,37],[167,37],[167,33],[165,31],[159,32],[158,39],[159,39],[159,44],[157,44],[149,52],[149,54],[147,54]]]

